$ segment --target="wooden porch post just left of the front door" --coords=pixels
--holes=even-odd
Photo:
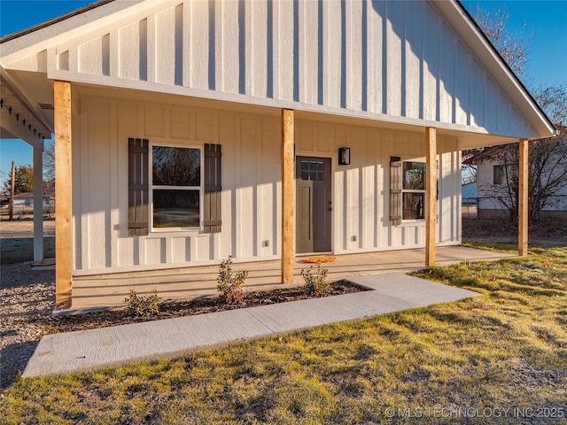
[[[293,283],[293,111],[282,110],[282,283]]]

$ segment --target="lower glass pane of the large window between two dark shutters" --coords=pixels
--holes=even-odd
[[[153,189],[154,228],[198,228],[199,191]]]

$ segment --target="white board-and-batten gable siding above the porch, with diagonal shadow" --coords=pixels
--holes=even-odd
[[[534,136],[427,1],[155,1],[91,27],[5,66],[61,81]]]

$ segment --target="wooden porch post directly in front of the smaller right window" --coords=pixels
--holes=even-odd
[[[425,128],[425,267],[435,266],[437,222],[437,130]]]

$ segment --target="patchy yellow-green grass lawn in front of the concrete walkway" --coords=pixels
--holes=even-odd
[[[416,275],[482,296],[181,359],[19,379],[0,399],[0,422],[567,422],[567,248]]]

